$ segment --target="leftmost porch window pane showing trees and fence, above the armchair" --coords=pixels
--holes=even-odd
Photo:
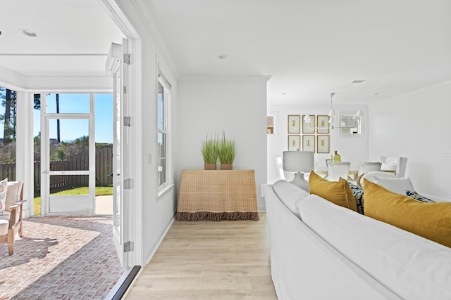
[[[0,180],[16,180],[16,91],[0,87]]]

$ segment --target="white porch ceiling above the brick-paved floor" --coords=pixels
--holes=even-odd
[[[25,77],[103,76],[123,37],[97,0],[0,0],[0,10],[0,66]]]

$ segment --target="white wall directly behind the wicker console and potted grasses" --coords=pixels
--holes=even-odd
[[[254,169],[259,210],[266,183],[266,81],[267,77],[185,77],[178,86],[178,148],[175,173],[203,169],[201,145],[208,132],[235,138],[233,169]]]

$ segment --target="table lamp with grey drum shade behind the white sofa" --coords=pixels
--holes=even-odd
[[[284,151],[283,169],[285,171],[296,172],[295,179],[290,181],[299,186],[302,190],[309,191],[309,181],[304,178],[304,173],[314,169],[313,151]]]

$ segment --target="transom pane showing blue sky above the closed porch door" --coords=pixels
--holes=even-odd
[[[89,94],[51,93],[46,97],[47,112],[89,114]]]

